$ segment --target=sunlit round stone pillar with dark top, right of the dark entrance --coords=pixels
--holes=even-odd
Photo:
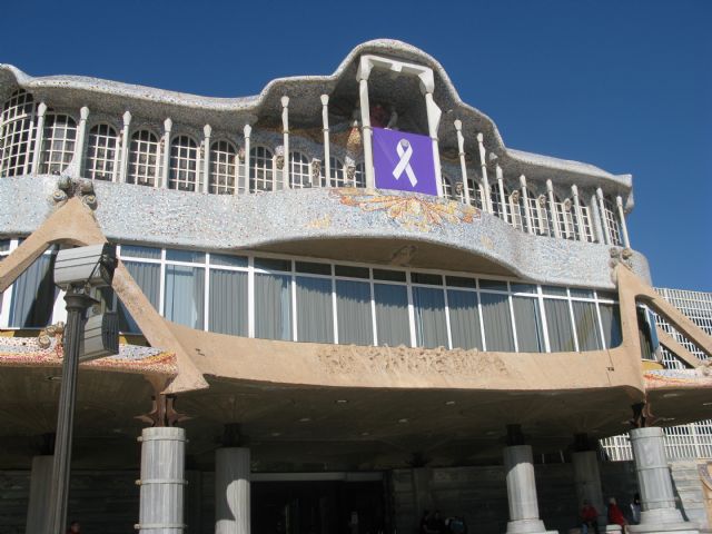
[[[534,463],[530,445],[504,447],[510,522],[506,534],[540,534],[547,531],[538,518]]]

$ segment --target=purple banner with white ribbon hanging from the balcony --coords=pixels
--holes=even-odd
[[[374,128],[373,132],[378,189],[437,195],[429,137],[383,128]]]

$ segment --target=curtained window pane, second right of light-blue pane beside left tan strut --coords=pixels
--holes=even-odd
[[[291,339],[290,279],[255,273],[255,337]]]

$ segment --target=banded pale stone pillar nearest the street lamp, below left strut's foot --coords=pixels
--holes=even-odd
[[[141,534],[181,534],[186,431],[160,426],[144,428],[141,437],[141,486],[139,524]]]

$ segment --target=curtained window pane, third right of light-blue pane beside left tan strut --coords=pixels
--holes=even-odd
[[[297,276],[297,339],[334,343],[332,279]]]

